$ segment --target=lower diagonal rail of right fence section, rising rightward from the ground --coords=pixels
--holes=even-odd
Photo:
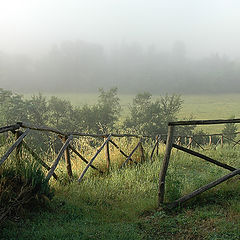
[[[219,179],[217,179],[217,180],[215,180],[215,181],[213,181],[213,182],[211,182],[211,183],[209,183],[209,184],[207,184],[203,187],[198,188],[197,190],[193,191],[192,193],[189,193],[189,194],[179,198],[178,200],[174,201],[173,203],[170,203],[170,206],[171,207],[176,207],[179,204],[184,203],[187,200],[189,200],[189,199],[191,199],[191,198],[193,198],[193,197],[195,197],[195,196],[197,196],[197,195],[199,195],[199,194],[201,194],[201,193],[219,185],[220,183],[236,176],[237,174],[240,174],[240,169],[236,169],[235,171],[233,171],[233,172],[231,172],[231,173],[229,173],[229,174],[227,174],[227,175],[225,175],[225,176],[223,176],[223,177],[221,177],[221,178],[219,178]]]

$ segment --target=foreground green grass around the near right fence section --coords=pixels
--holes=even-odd
[[[80,184],[68,183],[63,165],[61,182],[51,181],[55,197],[44,208],[27,211],[24,219],[5,222],[0,239],[208,239],[238,240],[240,236],[239,177],[230,179],[171,211],[158,210],[158,174],[164,154],[153,162],[99,175],[93,170]],[[206,150],[208,156],[240,167],[240,152],[229,146]],[[147,157],[147,156],[146,156]],[[101,166],[101,156],[96,164]],[[112,161],[119,156],[113,154]],[[74,160],[74,176],[79,176]],[[166,180],[166,201],[217,179],[227,170],[173,151]]]

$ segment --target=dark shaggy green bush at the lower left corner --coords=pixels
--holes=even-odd
[[[8,162],[0,169],[0,223],[20,215],[24,209],[43,206],[53,191],[37,163]]]

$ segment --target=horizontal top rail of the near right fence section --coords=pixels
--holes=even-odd
[[[240,123],[240,118],[235,118],[235,119],[217,119],[217,120],[177,121],[177,122],[169,122],[168,126],[211,125],[211,124],[225,124],[225,123]]]

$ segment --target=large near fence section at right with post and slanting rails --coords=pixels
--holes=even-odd
[[[228,119],[228,120],[195,120],[195,121],[178,121],[178,122],[169,122],[168,123],[168,136],[167,136],[167,142],[166,142],[166,151],[165,151],[165,156],[164,160],[162,163],[162,167],[160,170],[159,174],[159,187],[158,187],[158,207],[164,207],[164,205],[170,206],[170,207],[176,207],[185,201],[192,199],[193,197],[219,185],[220,183],[228,180],[229,178],[232,178],[236,176],[237,174],[240,174],[240,169],[236,169],[234,167],[231,167],[227,164],[221,163],[219,161],[216,161],[214,159],[211,159],[203,154],[197,153],[195,151],[189,150],[187,148],[181,147],[177,144],[173,143],[174,139],[174,129],[176,126],[186,126],[186,125],[212,125],[212,124],[227,124],[227,123],[240,123],[240,119]],[[211,162],[217,166],[223,167],[227,170],[230,170],[231,173],[203,186],[198,188],[197,190],[177,199],[174,202],[171,203],[165,203],[164,202],[164,195],[165,195],[165,180],[166,180],[166,174],[167,174],[167,169],[169,166],[170,162],[170,156],[171,156],[171,150],[172,148],[175,147],[179,150],[182,150],[188,154],[197,156],[205,161]]]

